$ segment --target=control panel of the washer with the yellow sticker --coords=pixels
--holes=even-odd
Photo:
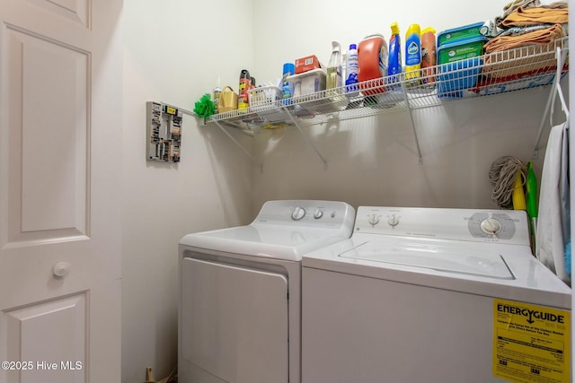
[[[359,206],[354,232],[529,245],[519,210]]]

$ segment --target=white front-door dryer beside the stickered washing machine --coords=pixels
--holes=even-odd
[[[301,381],[301,258],[349,238],[336,201],[269,201],[249,225],[179,244],[181,383]]]

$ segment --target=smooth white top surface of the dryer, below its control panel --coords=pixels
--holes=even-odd
[[[333,229],[252,223],[188,234],[181,239],[180,245],[246,256],[301,261],[305,253],[348,237],[349,233]]]

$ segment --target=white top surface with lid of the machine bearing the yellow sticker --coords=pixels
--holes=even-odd
[[[354,234],[304,267],[571,309],[571,289],[529,247]]]

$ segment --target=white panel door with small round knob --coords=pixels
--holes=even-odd
[[[119,382],[118,0],[0,0],[0,383]]]

